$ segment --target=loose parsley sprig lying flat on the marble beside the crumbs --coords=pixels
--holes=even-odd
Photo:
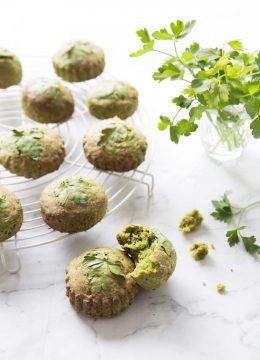
[[[218,221],[230,223],[238,217],[237,227],[226,232],[227,241],[230,247],[237,245],[240,240],[243,242],[245,249],[252,255],[260,254],[260,245],[256,244],[256,237],[244,236],[241,231],[246,229],[246,226],[241,226],[243,215],[249,209],[260,205],[260,200],[255,201],[247,206],[238,208],[231,204],[227,194],[224,194],[220,200],[212,200],[214,211],[211,213]]]

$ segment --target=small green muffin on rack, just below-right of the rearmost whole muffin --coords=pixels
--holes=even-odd
[[[138,92],[125,81],[103,80],[89,92],[89,112],[98,119],[126,119],[138,106]]]

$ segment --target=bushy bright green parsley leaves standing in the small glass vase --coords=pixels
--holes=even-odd
[[[137,31],[143,47],[130,54],[132,57],[157,52],[167,60],[154,72],[156,81],[182,80],[187,87],[182,94],[172,99],[178,107],[170,118],[160,116],[159,130],[169,129],[170,138],[176,144],[181,136],[189,136],[198,128],[196,123],[205,113],[209,120],[210,111],[217,111],[217,118],[227,121],[241,121],[230,106],[242,104],[251,118],[251,130],[260,138],[260,52],[250,53],[241,41],[232,40],[222,48],[202,48],[197,42],[179,53],[178,41],[184,38],[195,25],[195,20],[184,23],[181,20],[170,23],[152,34],[144,28]],[[170,41],[173,52],[157,49],[157,41]],[[188,116],[182,117],[183,113]]]

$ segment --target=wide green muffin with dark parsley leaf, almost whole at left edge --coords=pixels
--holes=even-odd
[[[42,125],[19,127],[0,139],[0,164],[18,176],[37,179],[57,170],[64,157],[61,136]]]

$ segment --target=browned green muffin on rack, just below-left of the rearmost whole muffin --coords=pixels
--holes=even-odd
[[[40,123],[63,122],[74,111],[71,91],[59,80],[51,78],[37,78],[28,83],[21,101],[26,115]]]

